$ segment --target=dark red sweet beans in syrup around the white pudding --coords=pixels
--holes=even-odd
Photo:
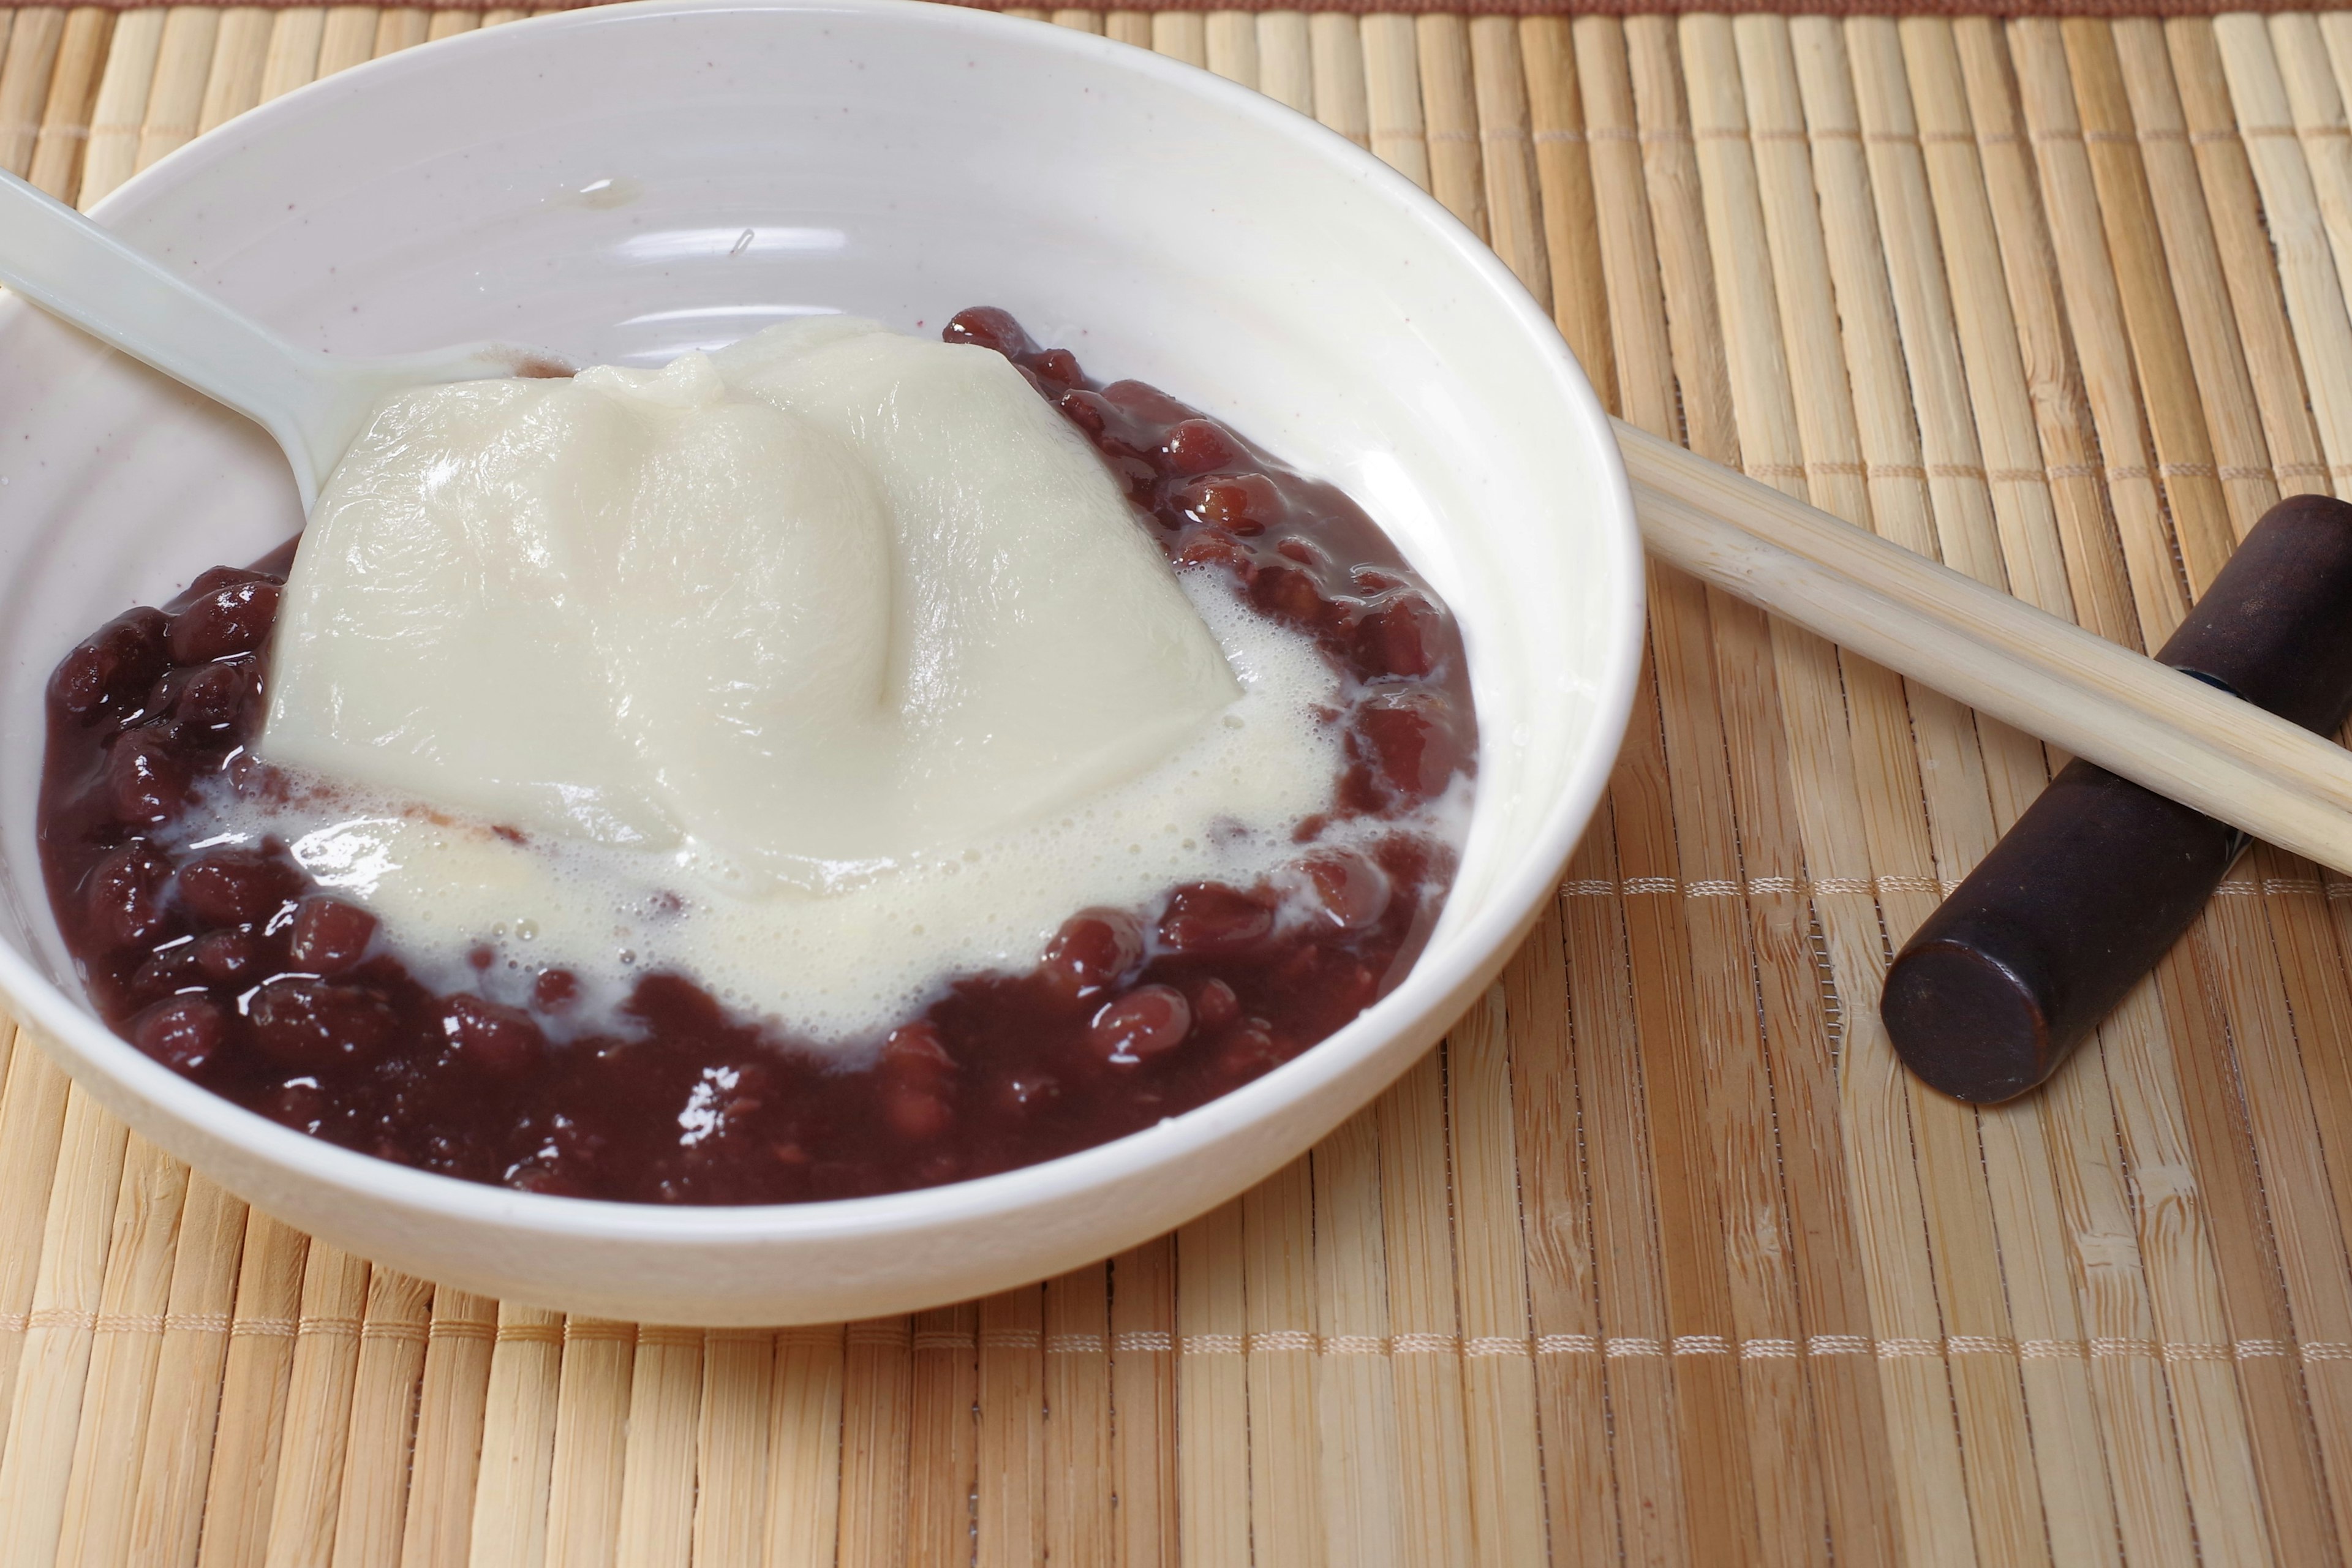
[[[111,1027],[273,1121],[475,1182],[652,1204],[793,1204],[1070,1154],[1214,1100],[1402,978],[1454,875],[1418,816],[1472,769],[1454,618],[1338,489],[1136,381],[1089,381],[1002,310],[946,341],[1009,357],[1101,449],[1178,571],[1225,574],[1350,677],[1334,818],[1294,893],[1190,884],[1082,910],[1028,973],[978,973],[877,1048],[816,1051],[682,973],[619,1016],[564,969],[529,1006],[437,994],[285,844],[207,846],[205,795],[285,792],[249,745],[292,545],[132,609],[49,679],[40,849],[66,947]],[[207,778],[219,776],[219,778]],[[1362,832],[1392,818],[1395,827]],[[517,837],[517,835],[510,835]],[[475,954],[489,964],[489,950]],[[854,1065],[842,1065],[842,1060]]]

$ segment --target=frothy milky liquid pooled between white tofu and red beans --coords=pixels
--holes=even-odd
[[[1148,907],[1185,882],[1249,886],[1277,872],[1298,856],[1298,823],[1331,809],[1343,755],[1324,715],[1348,701],[1331,661],[1221,576],[1178,581],[1235,670],[1230,708],[1091,799],[828,893],[739,891],[691,849],[499,832],[299,776],[285,802],[214,785],[183,832],[285,842],[315,882],[372,910],[435,990],[520,1004],[541,969],[569,969],[588,1001],[574,1023],[609,1030],[626,1027],[614,1006],[640,976],[677,971],[811,1044],[870,1041],[955,976],[1025,971],[1082,907]],[[1458,809],[1449,799],[1437,816]],[[1458,839],[1449,820],[1425,827]],[[1319,844],[1352,832],[1341,823]],[[473,961],[480,947],[487,971]]]

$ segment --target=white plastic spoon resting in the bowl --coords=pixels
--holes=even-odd
[[[294,465],[306,515],[390,393],[562,371],[553,355],[506,343],[383,360],[296,348],[5,172],[0,284],[268,430]]]

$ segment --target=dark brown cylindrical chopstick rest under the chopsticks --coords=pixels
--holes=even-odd
[[[2333,733],[2352,712],[2352,505],[2270,508],[2157,658]],[[2034,1088],[2244,849],[2237,827],[2070,762],[1896,954],[1886,1034],[1947,1095],[1990,1105]]]

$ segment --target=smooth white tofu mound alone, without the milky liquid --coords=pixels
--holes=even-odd
[[[1237,696],[1011,364],[818,317],[386,404],[294,559],[259,750],[814,891],[1134,778]]]

